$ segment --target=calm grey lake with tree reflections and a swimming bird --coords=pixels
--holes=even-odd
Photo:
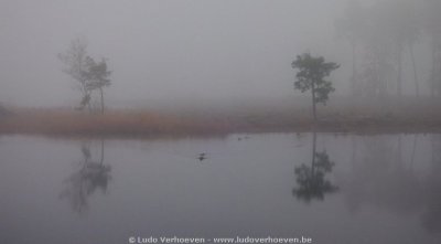
[[[2,136],[0,155],[4,244],[441,243],[441,135]]]

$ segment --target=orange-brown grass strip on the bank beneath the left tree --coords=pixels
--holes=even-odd
[[[18,110],[0,119],[0,134],[160,135],[218,131],[222,125],[146,112],[104,115],[53,109]]]

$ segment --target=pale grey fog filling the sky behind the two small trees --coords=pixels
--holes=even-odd
[[[75,106],[80,95],[57,54],[78,38],[88,43],[88,54],[107,59],[112,71],[112,85],[105,89],[110,106],[294,100],[302,94],[293,89],[291,62],[304,52],[342,65],[332,81],[335,96],[346,96],[352,47],[335,22],[347,2],[1,0],[0,103]],[[429,93],[428,45],[420,38],[415,47],[421,94]],[[404,89],[410,94],[412,73],[406,55]]]

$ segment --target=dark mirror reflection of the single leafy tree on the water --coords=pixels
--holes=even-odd
[[[336,185],[325,179],[325,176],[332,172],[335,163],[330,160],[325,150],[316,151],[315,131],[313,132],[311,158],[311,166],[302,163],[300,167],[294,168],[298,188],[292,190],[292,194],[305,202],[311,202],[313,199],[323,200],[326,193],[338,190]]]

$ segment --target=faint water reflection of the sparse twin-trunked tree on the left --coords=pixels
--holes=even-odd
[[[104,163],[104,140],[100,141],[100,157],[94,161],[90,153],[90,144],[82,144],[83,160],[79,169],[64,181],[65,189],[61,193],[62,199],[67,199],[72,209],[77,213],[84,213],[88,208],[88,198],[98,189],[104,193],[111,179],[111,167]]]

